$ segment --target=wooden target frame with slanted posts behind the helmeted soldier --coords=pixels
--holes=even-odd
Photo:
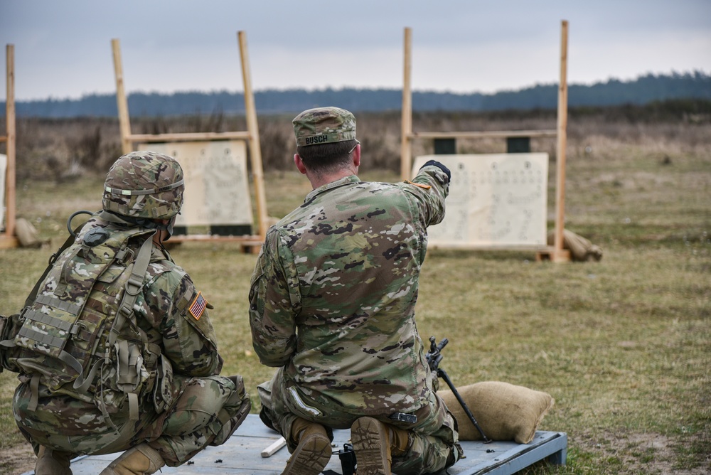
[[[124,154],[134,151],[136,144],[166,143],[166,142],[213,142],[213,141],[243,141],[247,142],[247,149],[252,166],[252,182],[255,188],[255,202],[257,208],[257,235],[173,235],[171,242],[188,240],[222,240],[238,242],[243,247],[258,247],[267,236],[267,199],[264,193],[264,171],[262,168],[262,151],[260,148],[260,133],[257,126],[257,111],[254,95],[252,93],[252,80],[250,78],[250,64],[247,55],[247,35],[244,31],[237,32],[237,43],[240,48],[242,63],[242,81],[245,88],[245,116],[247,130],[237,132],[188,132],[167,134],[132,134],[129,119],[128,101],[124,89],[124,73],[121,62],[119,40],[112,40],[114,56],[114,73],[116,76],[116,100],[119,112],[119,127],[121,130],[121,146]],[[250,209],[250,215],[252,210]],[[254,216],[252,216],[254,218]]]

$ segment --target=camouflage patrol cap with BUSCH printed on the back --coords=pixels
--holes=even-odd
[[[355,140],[355,117],[338,107],[316,107],[292,120],[297,146]]]

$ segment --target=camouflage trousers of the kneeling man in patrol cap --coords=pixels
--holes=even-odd
[[[289,396],[283,374],[283,368],[279,368],[272,380],[257,386],[257,391],[262,402],[260,418],[267,427],[284,436],[289,452],[294,452],[298,445],[291,437],[292,423],[297,417],[324,425],[331,441],[333,429],[350,429],[361,417],[340,412],[336,404],[324,405],[301,393],[301,401],[296,403]],[[430,394],[429,403],[412,412],[417,415],[415,424],[390,420],[387,418],[389,413],[370,416],[408,432],[407,452],[401,457],[392,457],[392,471],[397,474],[436,474],[454,465],[464,454],[454,416],[436,393]]]

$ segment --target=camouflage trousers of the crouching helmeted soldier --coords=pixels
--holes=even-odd
[[[43,445],[73,457],[110,454],[147,442],[167,465],[178,466],[208,445],[223,444],[250,412],[250,398],[239,375],[175,375],[173,385],[179,385],[180,392],[164,412],[157,414],[152,401],[144,401],[135,422],[128,420],[127,411],[109,415],[114,429],[93,402],[67,395],[46,397],[42,386],[37,409],[28,411],[31,390],[23,383],[14,395],[15,420],[35,453]]]

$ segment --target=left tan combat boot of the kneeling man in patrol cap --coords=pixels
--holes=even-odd
[[[331,440],[324,426],[299,418],[292,424],[292,439],[299,445],[282,475],[319,475],[331,459]]]

